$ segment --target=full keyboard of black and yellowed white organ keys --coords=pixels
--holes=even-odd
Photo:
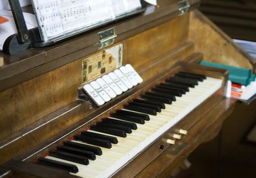
[[[172,81],[175,81],[173,85]],[[143,99],[143,96],[147,95],[144,94],[141,98],[134,99],[123,109],[117,110],[108,118],[103,118],[102,122],[91,126],[81,135],[75,135],[73,140],[65,142],[64,146],[58,146],[57,151],[50,152],[45,159],[41,158],[39,164],[63,168],[66,171],[69,171],[70,167],[75,167],[70,172],[81,177],[109,177],[215,93],[221,87],[222,80],[178,73],[163,84],[170,84],[174,89],[162,85],[163,90],[151,90],[147,94],[152,97],[155,97],[155,94],[163,94],[165,98],[156,96],[156,98]],[[175,87],[175,84],[180,84],[180,87]],[[181,88],[184,88],[183,94]],[[164,99],[169,99],[170,102],[163,101]],[[156,100],[159,101],[156,102]],[[133,124],[134,127],[129,127],[127,124]],[[171,139],[167,140],[170,144],[174,142]],[[71,145],[72,143],[78,145]],[[81,149],[83,144],[97,146],[101,149],[102,155],[95,154],[93,158],[88,157],[87,154],[83,154],[83,151],[90,151],[91,148]],[[78,150],[69,150],[71,148]],[[67,153],[71,155],[66,155]],[[81,157],[77,158],[78,155]],[[81,159],[83,159],[82,162]],[[53,165],[49,160],[57,162]],[[69,165],[65,169],[62,163]]]

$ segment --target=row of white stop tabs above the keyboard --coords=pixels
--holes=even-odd
[[[84,85],[82,90],[97,106],[101,106],[142,81],[134,68],[126,64]]]

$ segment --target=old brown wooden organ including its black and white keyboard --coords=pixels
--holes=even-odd
[[[188,2],[190,6],[184,10],[184,1],[158,1],[159,7],[148,6],[140,15],[54,46],[14,55],[1,53],[1,174],[165,177],[199,144],[214,138],[238,103],[223,96],[228,72],[202,67],[199,61],[246,67],[253,72],[255,61],[196,10],[199,1]],[[99,33],[110,28],[117,35],[114,44],[99,49]],[[143,82],[104,105],[95,106],[81,93],[81,86],[103,78],[115,68],[84,80],[84,61],[108,54],[108,49],[120,44],[122,65],[131,64]],[[198,75],[206,79],[198,81]],[[190,82],[197,78],[198,85],[184,86],[188,78]],[[180,85],[173,84],[173,79],[181,79]],[[173,86],[179,88],[178,94],[174,92],[176,96],[170,92]],[[180,95],[181,88],[189,90]],[[131,120],[136,118],[142,123]],[[135,124],[137,130],[133,128]],[[121,127],[130,128],[132,133]],[[117,136],[114,131],[125,133],[126,137]],[[106,141],[107,136],[111,141]],[[67,154],[64,159],[69,157],[69,162],[61,161],[66,147],[69,154],[70,148],[81,150],[84,142],[80,140],[94,149],[94,154],[88,156],[89,164],[72,164],[74,157]],[[74,143],[80,144],[70,146]],[[112,147],[107,149],[109,143]],[[100,147],[102,155],[95,154],[95,146]],[[59,162],[48,163],[49,160],[67,162],[71,165],[66,165],[69,171],[76,172],[75,166],[79,171],[68,173],[67,167],[61,167]],[[82,161],[88,163],[84,157]]]

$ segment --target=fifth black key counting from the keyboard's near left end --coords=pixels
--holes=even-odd
[[[103,139],[89,138],[89,137],[84,136],[84,135],[75,135],[74,139],[86,142],[88,144],[93,144],[93,145],[96,145],[96,146],[106,147],[107,149],[110,149],[112,147],[110,141],[103,140]]]

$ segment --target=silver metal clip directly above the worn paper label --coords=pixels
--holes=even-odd
[[[107,29],[106,31],[99,32],[98,34],[99,34],[98,49],[103,49],[107,46],[114,44],[115,38],[117,37],[114,27]]]

